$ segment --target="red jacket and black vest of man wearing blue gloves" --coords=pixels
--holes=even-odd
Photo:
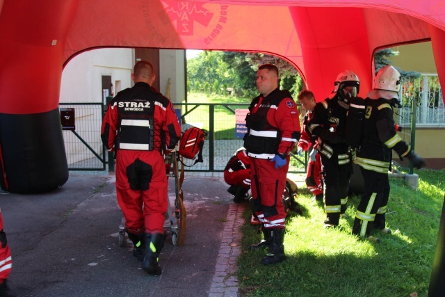
[[[287,155],[300,139],[300,120],[296,103],[288,90],[273,90],[269,95],[255,97],[245,118],[248,133],[244,147],[248,155],[272,159],[275,154]]]

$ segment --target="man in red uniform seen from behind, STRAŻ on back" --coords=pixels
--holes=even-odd
[[[170,100],[151,87],[155,78],[152,63],[134,65],[134,86],[108,104],[101,137],[108,150],[116,151],[118,203],[135,255],[143,257],[144,271],[160,275],[157,259],[168,208],[163,150],[175,148],[181,126]]]

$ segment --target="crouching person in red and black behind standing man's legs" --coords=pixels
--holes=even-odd
[[[224,181],[230,185],[227,192],[235,196],[235,203],[246,201],[250,189],[250,157],[244,147],[239,148],[227,162]]]

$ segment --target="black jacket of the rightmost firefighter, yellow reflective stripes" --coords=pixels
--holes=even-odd
[[[410,145],[397,134],[393,114],[391,100],[366,98],[364,137],[355,159],[357,165],[387,174],[391,170],[391,150],[401,157],[410,152]]]

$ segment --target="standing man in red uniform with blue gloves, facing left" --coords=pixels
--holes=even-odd
[[[248,133],[244,147],[250,156],[252,200],[261,223],[264,241],[252,248],[268,248],[262,264],[285,259],[284,229],[286,213],[282,193],[289,168],[289,152],[300,138],[300,120],[296,103],[287,90],[278,88],[278,69],[261,65],[257,72],[260,95],[250,104],[246,116]]]

